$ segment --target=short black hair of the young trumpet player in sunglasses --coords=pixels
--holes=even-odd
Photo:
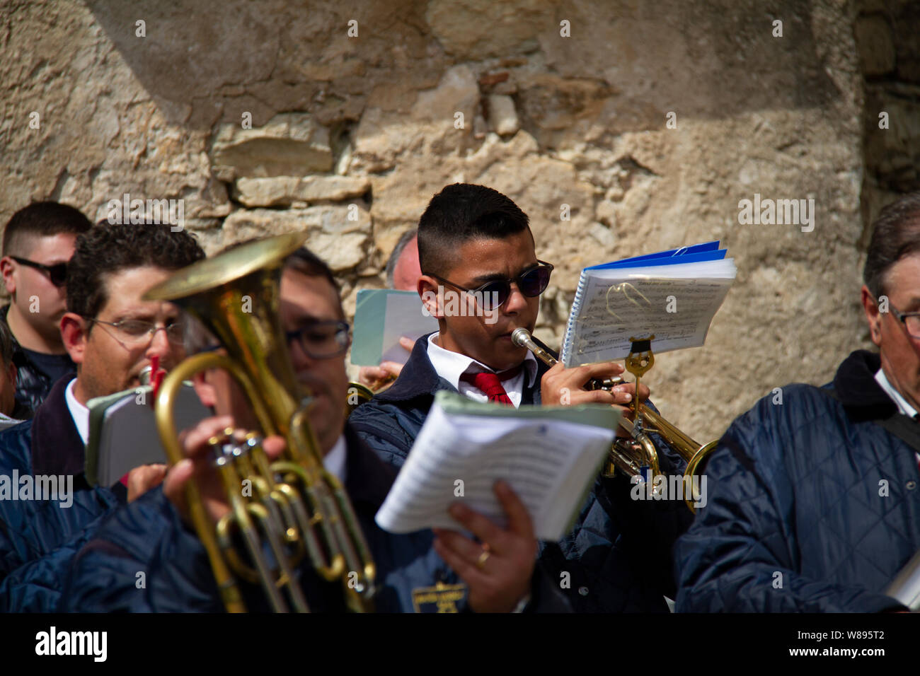
[[[419,221],[419,263],[426,275],[443,275],[457,248],[472,239],[502,239],[529,231],[527,214],[498,190],[454,183],[431,198]]]

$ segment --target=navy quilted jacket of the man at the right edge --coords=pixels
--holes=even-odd
[[[881,591],[920,549],[920,424],[879,365],[857,350],[833,384],[788,385],[731,424],[675,546],[679,612],[898,607]]]

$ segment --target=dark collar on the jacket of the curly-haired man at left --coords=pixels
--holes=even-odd
[[[32,419],[32,473],[82,475],[85,449],[64,392],[70,378],[59,378]]]

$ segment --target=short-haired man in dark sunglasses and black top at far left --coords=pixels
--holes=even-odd
[[[11,302],[0,318],[15,338],[14,418],[31,418],[52,384],[75,370],[61,339],[64,281],[76,235],[90,227],[81,212],[53,201],[29,204],[6,223],[0,273]]]

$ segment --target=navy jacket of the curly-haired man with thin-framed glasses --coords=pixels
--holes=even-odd
[[[55,610],[70,559],[125,498],[123,491],[86,484],[83,441],[64,401],[69,380],[54,384],[35,418],[0,431],[0,475],[74,477],[70,507],[61,500],[0,499],[2,612]]]

